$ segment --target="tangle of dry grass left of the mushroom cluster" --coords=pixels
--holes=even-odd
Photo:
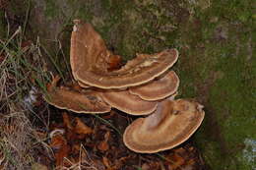
[[[12,34],[9,30],[8,25],[7,38],[0,39],[0,169],[31,169],[39,143],[34,134],[39,127],[33,123],[40,116],[34,106],[47,76],[39,43],[24,39],[21,27]]]

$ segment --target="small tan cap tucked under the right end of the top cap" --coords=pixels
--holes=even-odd
[[[163,77],[144,85],[129,88],[132,94],[139,95],[144,100],[160,100],[177,91],[179,85],[178,76],[170,71]]]

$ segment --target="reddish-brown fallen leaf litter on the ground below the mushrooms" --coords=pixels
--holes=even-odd
[[[156,154],[135,153],[100,119],[92,115],[61,114],[62,119],[50,125],[48,143],[54,154],[52,166],[57,169],[200,170],[204,167],[199,151],[191,142]],[[126,117],[128,124],[131,119],[117,110],[100,117],[110,123]]]

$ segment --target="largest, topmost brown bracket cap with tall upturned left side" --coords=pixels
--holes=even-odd
[[[154,80],[169,69],[177,60],[176,49],[158,54],[138,55],[123,68],[108,72],[113,54],[89,24],[75,22],[71,36],[70,63],[72,73],[79,82],[99,88],[121,88],[142,85]]]

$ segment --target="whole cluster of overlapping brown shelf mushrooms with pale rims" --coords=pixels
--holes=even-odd
[[[125,145],[136,152],[154,153],[185,142],[204,119],[203,106],[174,99],[179,78],[169,68],[177,61],[176,49],[137,54],[117,70],[111,62],[121,57],[109,51],[90,25],[80,20],[71,36],[70,64],[79,86],[48,85],[46,101],[77,113],[106,113],[116,108],[136,119],[123,135]]]

